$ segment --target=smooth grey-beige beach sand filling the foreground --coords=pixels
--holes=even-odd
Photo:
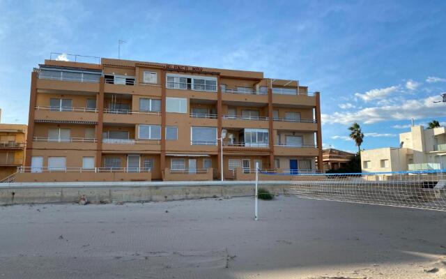
[[[446,278],[446,213],[277,197],[0,207],[3,278]]]

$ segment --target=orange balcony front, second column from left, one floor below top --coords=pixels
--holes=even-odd
[[[132,110],[104,110],[104,123],[160,124],[161,112],[139,112]]]

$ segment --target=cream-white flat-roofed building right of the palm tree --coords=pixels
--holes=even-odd
[[[399,134],[401,147],[361,151],[362,172],[446,169],[446,128],[412,126]]]

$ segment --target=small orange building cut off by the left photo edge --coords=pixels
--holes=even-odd
[[[24,163],[26,125],[0,124],[0,181]]]

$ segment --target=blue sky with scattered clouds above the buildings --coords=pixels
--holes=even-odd
[[[229,5],[231,3],[231,5]],[[321,91],[323,144],[398,146],[410,119],[446,122],[446,1],[0,0],[2,123],[26,123],[50,52],[263,71]]]

